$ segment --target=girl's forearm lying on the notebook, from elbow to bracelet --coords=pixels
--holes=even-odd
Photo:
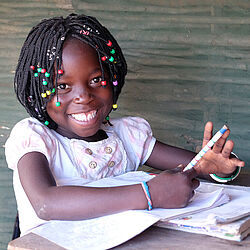
[[[43,192],[32,204],[38,217],[45,220],[81,220],[147,208],[140,184],[110,188],[52,186]]]

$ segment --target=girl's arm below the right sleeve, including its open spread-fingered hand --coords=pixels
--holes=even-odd
[[[212,122],[208,122],[204,129],[202,147],[212,138],[212,134],[213,124]],[[226,131],[215,143],[213,149],[209,150],[195,166],[195,170],[199,177],[206,178],[209,173],[217,173],[221,176],[226,176],[233,173],[237,166],[244,166],[243,161],[230,157],[234,143],[231,140],[227,141],[229,134],[230,131]],[[161,170],[173,169],[179,164],[186,166],[194,156],[194,152],[172,147],[157,141],[146,165]]]

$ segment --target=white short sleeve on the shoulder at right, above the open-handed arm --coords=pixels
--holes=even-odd
[[[149,123],[140,117],[126,117],[119,119],[114,126],[127,153],[134,156],[136,165],[144,164],[151,155],[156,142]]]

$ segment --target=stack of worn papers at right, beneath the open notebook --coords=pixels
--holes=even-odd
[[[157,226],[241,241],[250,234],[250,188],[201,183],[198,191],[214,192],[224,188],[230,202],[206,211],[159,221]]]

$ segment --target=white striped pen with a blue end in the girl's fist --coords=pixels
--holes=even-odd
[[[183,171],[187,171],[195,166],[195,164],[203,157],[206,152],[212,148],[212,146],[217,142],[221,136],[228,130],[228,127],[224,125],[206,144],[204,148],[189,162],[189,164],[183,169]]]

